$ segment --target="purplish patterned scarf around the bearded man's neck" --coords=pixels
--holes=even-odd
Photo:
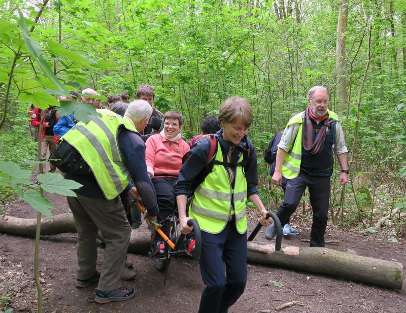
[[[318,154],[322,150],[324,146],[324,141],[326,140],[326,134],[334,120],[329,118],[327,115],[325,117],[320,118],[323,122],[323,126],[320,128],[320,131],[317,133],[316,140],[313,140],[313,124],[311,120],[311,113],[310,108],[306,109],[304,112],[303,118],[303,130],[302,130],[302,143],[303,148],[309,151],[311,154]]]

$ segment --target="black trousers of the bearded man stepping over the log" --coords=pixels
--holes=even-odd
[[[324,247],[324,233],[327,226],[328,200],[330,195],[330,177],[309,176],[300,172],[297,177],[287,180],[285,199],[279,206],[276,215],[281,220],[282,226],[288,223],[306,187],[309,187],[310,204],[313,208],[310,247]]]

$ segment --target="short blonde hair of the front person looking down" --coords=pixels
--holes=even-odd
[[[218,119],[223,123],[233,123],[241,117],[246,127],[252,124],[252,111],[247,98],[233,96],[224,100],[220,107]]]

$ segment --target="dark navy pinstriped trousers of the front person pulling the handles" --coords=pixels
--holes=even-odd
[[[201,294],[199,313],[226,313],[243,294],[247,232],[240,234],[235,221],[228,222],[218,234],[201,232],[200,274],[207,287]]]

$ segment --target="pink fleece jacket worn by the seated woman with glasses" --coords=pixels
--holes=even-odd
[[[158,133],[149,137],[145,146],[147,170],[151,178],[178,177],[182,158],[190,150],[182,138],[170,142]]]

